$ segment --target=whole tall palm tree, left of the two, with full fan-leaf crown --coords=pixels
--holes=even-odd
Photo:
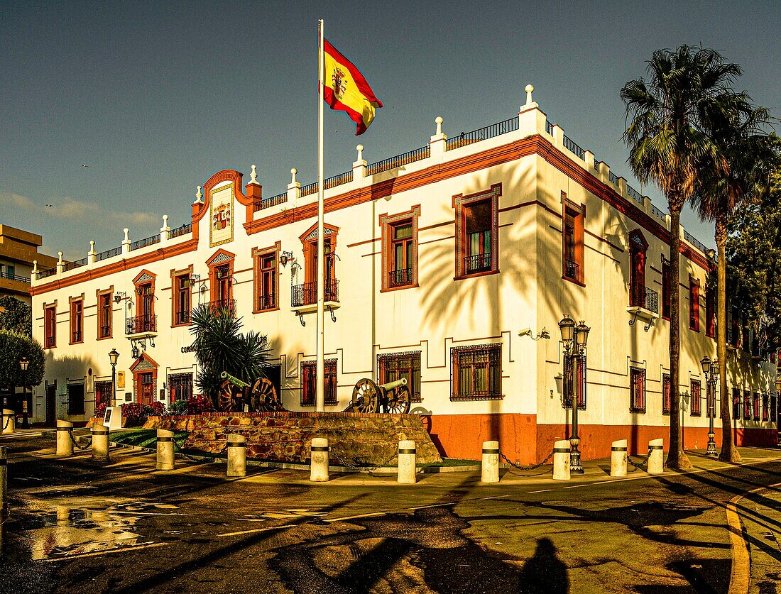
[[[680,439],[680,213],[694,193],[701,168],[726,169],[708,130],[710,114],[729,104],[740,66],[718,52],[682,45],[657,50],[647,62],[648,80],[630,80],[621,90],[628,126],[629,165],[641,183],[656,183],[670,212],[670,468],[692,468]]]

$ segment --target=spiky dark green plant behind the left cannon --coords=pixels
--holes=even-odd
[[[241,327],[241,318],[234,318],[227,308],[204,304],[192,312],[190,332],[195,337],[192,347],[198,360],[196,383],[216,408],[222,372],[250,384],[266,377],[270,352],[266,336],[254,330],[242,334]]]

